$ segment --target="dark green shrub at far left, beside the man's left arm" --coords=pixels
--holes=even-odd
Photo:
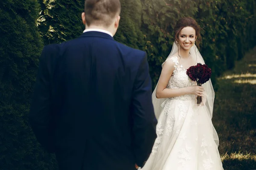
[[[36,0],[0,3],[0,169],[45,170],[52,165],[28,124],[42,49]]]

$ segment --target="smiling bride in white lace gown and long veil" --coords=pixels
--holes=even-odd
[[[215,96],[211,80],[197,86],[186,75],[190,66],[204,64],[195,45],[201,41],[200,27],[185,17],[174,31],[172,52],[152,94],[157,139],[142,170],[223,170],[211,121]],[[196,96],[202,96],[200,105]]]

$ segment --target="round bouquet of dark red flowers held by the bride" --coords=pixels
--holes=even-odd
[[[197,85],[201,86],[210,79],[212,70],[207,65],[198,63],[197,65],[189,67],[186,71],[186,74],[192,81],[196,81]],[[197,104],[199,105],[201,102],[202,96],[198,96]]]

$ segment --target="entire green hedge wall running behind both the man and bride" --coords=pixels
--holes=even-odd
[[[43,45],[81,35],[84,0],[4,0],[0,3],[0,170],[55,170],[27,122]],[[180,17],[201,26],[201,54],[212,82],[256,45],[255,0],[121,0],[115,39],[148,54],[153,86],[174,42]],[[39,14],[39,15],[38,15]],[[36,25],[37,24],[37,25]],[[38,28],[39,31],[38,31]],[[154,88],[154,87],[153,87]]]

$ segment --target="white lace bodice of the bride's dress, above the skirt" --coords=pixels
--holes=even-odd
[[[192,81],[186,74],[186,70],[183,68],[183,65],[180,65],[178,57],[174,56],[170,58],[174,63],[174,71],[169,79],[167,88],[184,88],[192,85],[197,85],[195,81]],[[194,94],[186,94],[178,97],[171,97],[170,99],[180,99],[180,100],[191,100],[195,99]]]

